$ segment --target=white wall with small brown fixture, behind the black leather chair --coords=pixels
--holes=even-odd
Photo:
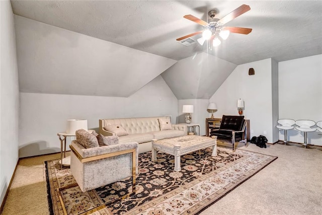
[[[272,124],[272,64],[271,59],[259,60],[238,65],[226,81],[219,87],[209,102],[217,104],[215,117],[238,115],[237,99],[245,101],[244,116],[250,119],[252,136],[264,135],[268,142],[273,139]],[[255,75],[249,76],[249,68],[255,69]]]

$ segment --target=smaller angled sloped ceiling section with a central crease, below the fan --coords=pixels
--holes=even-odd
[[[161,76],[178,99],[209,99],[236,64],[207,53],[178,61]]]

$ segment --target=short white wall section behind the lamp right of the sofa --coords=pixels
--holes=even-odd
[[[208,99],[181,99],[178,100],[178,117],[177,123],[186,123],[185,113],[182,113],[183,105],[193,105],[194,112],[191,114],[191,123],[197,123],[200,126],[200,135],[206,135],[206,118],[209,117],[207,107]]]

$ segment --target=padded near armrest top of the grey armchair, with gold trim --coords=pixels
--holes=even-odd
[[[138,154],[138,146],[139,144],[137,142],[126,142],[124,144],[116,144],[116,145],[86,149],[82,145],[78,144],[76,140],[73,140],[69,148],[73,153],[77,153],[81,158],[89,158],[93,156],[117,153],[120,151],[131,150],[131,149],[135,149]]]

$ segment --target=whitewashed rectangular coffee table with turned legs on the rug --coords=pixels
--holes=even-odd
[[[212,155],[217,156],[217,137],[187,135],[168,139],[152,139],[152,161],[157,161],[156,151],[175,156],[175,171],[180,171],[180,156],[212,147]]]

